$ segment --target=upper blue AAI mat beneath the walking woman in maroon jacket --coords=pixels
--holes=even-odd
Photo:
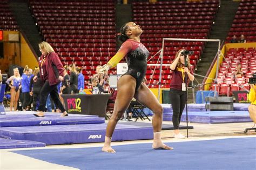
[[[75,124],[102,124],[104,118],[91,116],[60,117],[60,114],[45,114],[45,117],[35,117],[33,114],[1,115],[0,127],[17,126],[45,126],[45,125],[75,125]]]

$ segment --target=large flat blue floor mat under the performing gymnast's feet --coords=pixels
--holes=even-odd
[[[153,150],[152,144],[14,151],[35,159],[78,169],[256,169],[256,138],[173,142],[174,150]]]

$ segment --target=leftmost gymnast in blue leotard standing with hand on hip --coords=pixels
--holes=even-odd
[[[14,107],[14,111],[16,111],[19,99],[19,89],[21,89],[21,75],[19,74],[18,68],[14,69],[14,76],[11,76],[6,80],[6,84],[11,87],[10,111],[12,111],[12,107]]]

